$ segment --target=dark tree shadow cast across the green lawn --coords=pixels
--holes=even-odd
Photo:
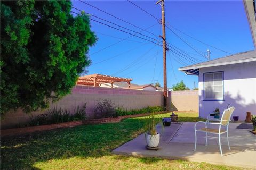
[[[193,117],[195,118],[195,117]],[[1,169],[35,169],[36,162],[71,157],[102,157],[141,134],[143,118],[82,125],[1,139]],[[124,156],[117,157],[125,159]],[[159,158],[140,158],[145,164]]]

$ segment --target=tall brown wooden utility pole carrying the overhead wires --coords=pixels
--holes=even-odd
[[[164,107],[167,109],[167,78],[166,78],[166,39],[165,39],[165,16],[164,16],[164,0],[159,0],[157,4],[161,3],[162,7],[162,39],[163,39],[163,64],[164,64]]]

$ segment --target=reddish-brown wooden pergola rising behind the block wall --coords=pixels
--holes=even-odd
[[[113,88],[113,83],[115,82],[127,82],[130,89],[131,81],[132,79],[128,79],[128,78],[113,77],[113,76],[102,75],[102,74],[92,74],[92,75],[85,75],[85,76],[79,77],[76,84],[100,87],[101,84],[111,83],[111,88]]]

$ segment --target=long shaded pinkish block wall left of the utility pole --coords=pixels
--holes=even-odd
[[[147,106],[162,106],[163,92],[75,86],[71,94],[63,97],[57,103],[51,104],[50,108],[58,106],[58,108],[68,109],[70,113],[73,113],[74,107],[78,105],[82,107],[87,103],[86,116],[92,118],[93,108],[102,99],[110,99],[116,106],[125,109],[140,109]],[[30,115],[43,113],[47,113],[47,110],[36,111],[31,114],[26,114],[21,109],[15,112],[9,112],[6,114],[5,119],[1,120],[1,129],[15,128],[19,125],[26,124],[30,120]]]

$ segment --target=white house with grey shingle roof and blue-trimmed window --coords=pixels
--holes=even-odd
[[[246,112],[256,115],[256,51],[243,52],[179,68],[198,75],[199,116],[206,118],[216,107],[234,106],[244,121]]]

